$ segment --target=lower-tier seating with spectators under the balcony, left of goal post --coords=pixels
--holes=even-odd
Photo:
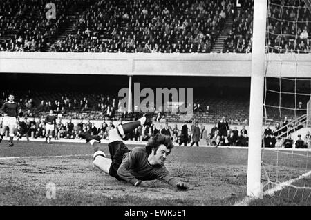
[[[110,92],[102,94],[102,92],[77,92],[70,90],[51,90],[44,92],[41,90],[0,90],[0,104],[8,101],[8,94],[15,94],[15,101],[19,105],[19,117],[41,117],[42,114],[53,110],[55,114],[62,114],[62,117],[68,119],[92,119],[92,120],[123,120],[131,121],[137,118],[138,106],[133,106],[133,112],[127,112],[121,105],[121,99]],[[225,114],[232,124],[248,124],[247,112],[240,110],[240,101],[234,100],[229,106],[237,108],[236,112],[243,114],[230,114],[225,108],[228,107],[227,99],[209,99],[205,102],[205,97],[196,97],[193,112],[194,118],[200,120],[201,116],[205,116],[200,121],[208,123],[217,120],[219,114]],[[243,99],[244,100],[244,99]],[[247,99],[245,99],[247,104]],[[212,105],[211,108],[209,105]],[[239,106],[239,107],[238,107]],[[151,107],[148,109],[151,112]],[[165,110],[162,106],[154,108],[153,114],[157,121],[160,121],[165,115],[170,117],[170,121],[178,121],[178,116],[182,115],[178,110],[176,113],[169,112],[173,109],[167,107]],[[236,113],[235,112],[235,113]],[[176,116],[173,119],[174,115]]]

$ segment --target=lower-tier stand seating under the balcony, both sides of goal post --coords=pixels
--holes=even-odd
[[[12,91],[10,91],[12,92]],[[50,109],[58,114],[62,114],[65,118],[72,119],[92,119],[92,120],[108,120],[122,119],[131,120],[135,116],[126,114],[124,110],[118,107],[119,98],[117,92],[115,94],[100,94],[96,92],[76,92],[76,91],[31,91],[17,90],[13,91],[15,101],[19,103],[23,114],[21,116],[41,117],[42,112],[46,114]],[[232,91],[231,96],[225,95],[196,95],[194,99],[194,119],[200,123],[214,123],[221,117],[225,116],[229,121],[236,124],[243,124],[249,119],[249,97],[241,96],[236,91]],[[294,108],[290,96],[284,95],[282,106]],[[8,99],[8,91],[2,91],[0,95],[0,103]],[[301,97],[301,109],[305,109],[308,102],[308,97]],[[267,105],[275,105],[279,103],[279,96],[270,96],[267,100]],[[298,105],[298,103],[297,103]],[[200,110],[196,108],[200,106]],[[207,109],[207,106],[209,108]],[[28,112],[30,111],[30,113]],[[284,110],[285,111],[285,110]],[[171,122],[185,121],[186,117],[182,113],[163,113],[165,118]],[[286,112],[284,113],[286,114]],[[299,112],[297,113],[299,114]],[[303,114],[303,111],[301,111]],[[154,117],[157,117],[158,112],[155,111]],[[279,110],[271,110],[269,118],[273,121],[278,121],[277,116]],[[288,111],[288,119],[294,118],[293,113]],[[126,117],[127,116],[127,117]],[[247,124],[247,122],[245,123]]]

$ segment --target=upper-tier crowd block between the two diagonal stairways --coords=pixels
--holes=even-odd
[[[57,52],[211,52],[232,0],[97,1]]]

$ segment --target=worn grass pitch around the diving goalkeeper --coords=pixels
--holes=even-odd
[[[106,144],[102,149],[109,157]],[[246,148],[173,148],[166,166],[174,177],[189,183],[187,191],[158,180],[148,181],[146,188],[117,181],[93,166],[92,154],[86,143],[15,141],[8,148],[3,141],[0,206],[231,206],[246,194]],[[269,155],[272,163],[273,153]],[[51,182],[56,185],[56,199],[46,197]],[[250,205],[292,203],[273,198]],[[301,205],[311,206],[310,201]]]

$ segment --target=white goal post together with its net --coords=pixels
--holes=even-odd
[[[300,36],[305,24],[301,13],[308,10],[308,3],[303,0],[254,1],[247,167],[247,195],[251,198],[270,197],[274,201],[300,205],[311,201],[311,143],[305,139],[306,134],[311,133],[311,62],[299,62],[300,56],[310,54],[298,49],[298,44],[305,41]],[[287,10],[296,14],[294,19],[285,16]],[[276,24],[279,30],[271,30],[271,24]],[[296,34],[285,31],[285,26],[294,26]],[[263,30],[266,30],[265,36]],[[297,48],[284,48],[282,40],[297,44]],[[272,56],[278,56],[275,70],[280,70],[273,74]],[[290,62],[288,57],[292,58]],[[275,130],[272,133],[276,138],[274,148],[265,146],[263,131],[267,126]],[[295,145],[299,137],[305,141],[301,149]],[[292,144],[286,145],[290,139],[288,143]]]

